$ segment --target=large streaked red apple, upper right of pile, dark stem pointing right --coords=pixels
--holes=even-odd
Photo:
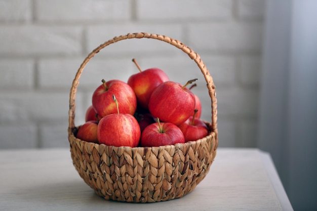
[[[189,80],[185,86],[174,81],[166,81],[157,87],[149,100],[149,111],[164,122],[179,125],[186,121],[195,107],[195,97],[186,86],[195,81]]]

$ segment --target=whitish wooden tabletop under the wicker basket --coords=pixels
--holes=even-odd
[[[76,172],[69,149],[0,150],[0,210],[293,210],[268,153],[218,148],[206,178],[182,198],[108,201]]]

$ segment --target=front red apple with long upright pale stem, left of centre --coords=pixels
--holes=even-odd
[[[119,113],[118,102],[114,95],[113,100],[117,113],[108,114],[100,119],[97,130],[99,143],[116,147],[138,146],[141,137],[138,121],[129,113]]]

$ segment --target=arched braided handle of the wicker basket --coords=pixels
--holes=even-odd
[[[175,46],[185,52],[190,59],[194,60],[198,67],[201,69],[202,73],[204,74],[205,80],[207,82],[207,88],[209,90],[209,96],[211,98],[211,128],[212,131],[216,135],[216,142],[218,142],[218,129],[217,129],[217,99],[216,99],[216,89],[214,85],[214,81],[212,76],[209,73],[209,70],[206,68],[203,60],[201,57],[195,53],[193,50],[182,44],[180,41],[170,38],[168,36],[163,36],[159,34],[150,34],[150,33],[129,33],[126,35],[121,35],[121,36],[116,36],[112,39],[109,39],[105,43],[101,44],[99,47],[94,49],[83,61],[81,64],[80,68],[77,70],[77,73],[75,75],[75,78],[72,82],[72,86],[70,89],[70,94],[69,94],[69,119],[68,119],[68,130],[73,130],[75,127],[74,124],[74,118],[75,118],[75,97],[76,97],[76,91],[77,91],[77,86],[79,83],[80,76],[83,72],[83,69],[85,68],[86,64],[90,61],[91,58],[93,58],[101,49],[105,48],[106,46],[116,43],[117,41],[124,40],[124,39],[131,39],[131,38],[152,38],[152,39],[158,39],[165,41],[166,43],[171,44],[172,46]]]

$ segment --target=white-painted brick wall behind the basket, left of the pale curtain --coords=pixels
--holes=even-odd
[[[265,0],[0,0],[0,149],[68,147],[69,89],[84,58],[104,41],[149,32],[199,53],[217,90],[219,146],[256,146]],[[172,80],[199,78],[193,92],[210,120],[206,82],[196,64],[159,40],[112,44],[86,66],[76,95],[84,121],[101,79],[127,80],[159,67]]]

